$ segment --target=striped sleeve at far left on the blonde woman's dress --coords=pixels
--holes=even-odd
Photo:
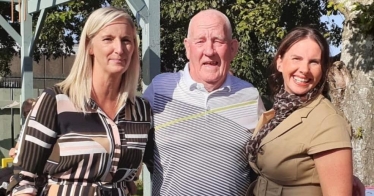
[[[45,90],[30,111],[19,150],[14,158],[14,175],[8,193],[36,195],[36,178],[43,173],[44,166],[56,143],[57,105],[52,89]]]

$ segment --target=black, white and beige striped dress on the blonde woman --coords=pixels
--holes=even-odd
[[[44,91],[26,121],[9,191],[36,194],[45,179],[45,195],[128,195],[126,181],[134,180],[143,157],[153,159],[150,106],[128,100],[114,120],[93,100],[88,108],[78,111],[58,87]]]

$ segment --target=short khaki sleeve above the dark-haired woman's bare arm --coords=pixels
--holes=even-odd
[[[332,114],[321,122],[314,133],[308,154],[313,155],[338,148],[352,148],[351,129],[342,116]]]

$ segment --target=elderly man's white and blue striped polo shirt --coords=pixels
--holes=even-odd
[[[156,76],[144,98],[155,119],[158,195],[245,195],[250,168],[244,146],[264,107],[256,88],[227,75],[213,92],[184,71]]]

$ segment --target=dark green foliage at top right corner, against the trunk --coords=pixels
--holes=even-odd
[[[374,3],[363,5],[355,3],[354,11],[358,11],[357,17],[353,20],[354,25],[365,35],[374,35]]]

